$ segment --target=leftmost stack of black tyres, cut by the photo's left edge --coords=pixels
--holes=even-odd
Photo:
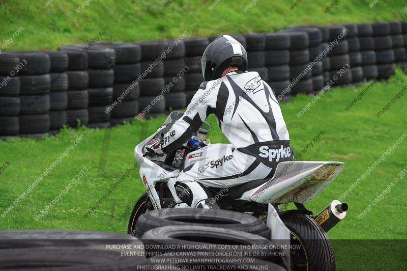
[[[0,54],[0,139],[18,134],[20,78],[10,73],[15,72],[19,63],[20,59],[13,53]]]

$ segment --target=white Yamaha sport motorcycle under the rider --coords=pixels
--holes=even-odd
[[[211,129],[207,122],[203,122],[188,143],[173,153],[158,156],[145,152],[144,146],[147,142],[153,138],[164,137],[183,114],[180,111],[170,113],[163,125],[135,148],[134,155],[140,165],[139,173],[146,193],[138,199],[133,208],[127,230],[129,234],[135,235],[136,221],[142,213],[153,209],[178,207],[168,189],[167,181],[178,176],[184,168],[210,156],[206,154],[206,146],[210,144],[206,136]],[[195,151],[202,154],[198,157],[194,155]],[[221,209],[249,213],[264,221],[271,203],[289,229],[291,244],[300,245],[302,248],[291,251],[292,270],[334,270],[335,258],[326,232],[344,219],[347,204],[334,200],[314,215],[304,203],[321,193],[343,167],[342,162],[280,162],[270,179],[252,180],[223,190],[209,188],[213,195],[221,195],[215,197]],[[287,210],[288,203],[294,203],[297,209]]]

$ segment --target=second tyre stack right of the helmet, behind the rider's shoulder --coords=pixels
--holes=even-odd
[[[290,83],[289,48],[290,38],[288,35],[283,33],[272,33],[266,36],[266,82],[272,88],[276,97],[281,97],[281,100],[283,101],[288,101],[291,93],[291,89],[287,89],[287,92],[282,94]]]

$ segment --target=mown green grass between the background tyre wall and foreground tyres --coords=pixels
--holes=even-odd
[[[311,100],[310,97],[299,95],[291,102],[281,105],[295,151],[300,152],[316,134],[324,132],[321,139],[314,143],[314,147],[303,155],[303,160],[332,160],[345,163],[343,172],[312,202],[306,204],[308,208],[318,211],[338,198],[390,145],[395,143],[401,134],[406,132],[405,95],[383,116],[380,118],[375,116],[375,113],[396,95],[406,82],[407,76],[397,70],[396,76],[389,82],[377,83],[349,112],[345,111],[344,107],[365,86],[333,89],[315,102],[301,118],[296,117],[296,114]],[[84,136],[75,149],[63,159],[62,164],[57,165],[33,192],[23,199],[20,206],[14,208],[5,218],[0,217],[0,229],[82,229],[125,233],[129,215],[126,215],[122,222],[118,222],[117,219],[126,209],[133,206],[134,201],[144,190],[138,169],[132,172],[131,177],[123,181],[93,214],[86,219],[83,215],[126,173],[127,169],[131,168],[134,164],[134,147],[152,134],[164,119],[165,117],[159,117],[113,127],[110,138],[106,137],[108,130],[80,128],[64,129],[57,136],[45,140],[14,139],[0,142],[2,153],[0,164],[6,161],[10,164],[0,175],[1,215],[16,197],[65,151],[66,147],[81,134]],[[214,127],[209,133],[211,142],[226,142],[214,118],[209,118],[209,121]],[[405,198],[407,177],[400,179],[390,194],[385,195],[380,203],[373,206],[370,213],[361,220],[357,218],[357,215],[407,166],[406,153],[407,141],[404,141],[345,198],[350,209],[346,219],[329,232],[330,238],[407,238],[407,225],[404,223],[402,211],[407,204]],[[50,209],[44,218],[35,221],[39,211],[59,195],[83,167],[88,168],[89,172],[62,197],[59,204]],[[342,259],[340,261],[342,267],[350,269],[351,266],[346,265],[349,264],[346,259],[350,255],[347,247],[339,243],[336,250],[341,252],[339,259]],[[363,257],[366,254],[363,254]],[[391,261],[394,264],[401,259],[392,256],[398,259]]]

